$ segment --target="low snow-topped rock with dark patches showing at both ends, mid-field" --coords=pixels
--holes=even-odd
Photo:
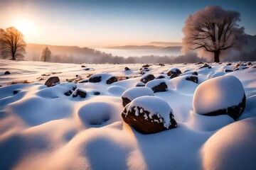
[[[117,77],[114,77],[112,74],[107,73],[93,74],[92,76],[90,76],[89,81],[92,83],[105,81],[106,84],[112,84],[117,81]]]

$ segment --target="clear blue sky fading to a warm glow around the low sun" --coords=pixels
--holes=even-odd
[[[224,0],[0,0],[0,28],[15,26],[26,42],[51,45],[181,42],[188,15],[216,4],[239,11],[245,33],[256,34],[256,1]]]

